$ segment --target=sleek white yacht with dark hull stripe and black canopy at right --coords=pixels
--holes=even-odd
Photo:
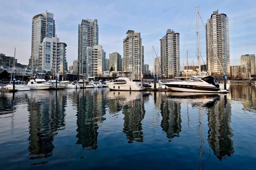
[[[187,81],[168,82],[164,83],[173,91],[182,92],[204,92],[204,93],[227,93],[227,90],[222,90],[215,79],[211,76],[192,76]]]

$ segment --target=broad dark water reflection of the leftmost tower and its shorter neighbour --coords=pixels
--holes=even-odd
[[[33,91],[28,99],[29,159],[52,156],[54,136],[65,126],[65,91]],[[42,161],[35,164],[44,164]]]

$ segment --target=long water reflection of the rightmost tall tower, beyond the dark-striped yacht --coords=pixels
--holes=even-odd
[[[231,100],[221,95],[212,108],[208,109],[208,142],[219,160],[234,153],[231,122]]]

